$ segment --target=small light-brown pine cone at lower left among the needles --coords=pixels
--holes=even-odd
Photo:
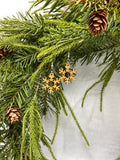
[[[14,124],[20,120],[20,110],[18,106],[12,106],[6,110],[6,119],[9,123]]]

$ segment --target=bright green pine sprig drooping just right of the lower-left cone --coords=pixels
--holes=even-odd
[[[41,147],[39,142],[42,137],[42,121],[36,106],[36,103],[37,103],[36,101],[37,101],[37,97],[34,96],[32,101],[28,104],[28,108],[23,118],[21,160],[23,159],[23,151],[24,151],[26,134],[28,134],[28,131],[26,131],[27,124],[29,124],[28,130],[30,134],[29,135],[30,136],[30,142],[29,142],[30,159],[35,158],[36,160],[39,160],[39,158],[41,157],[41,152],[40,152]]]

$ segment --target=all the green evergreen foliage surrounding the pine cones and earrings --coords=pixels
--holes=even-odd
[[[43,2],[43,6],[33,10]],[[98,83],[102,83],[100,111],[103,93],[115,71],[120,70],[120,4],[116,1],[103,5],[100,1],[79,0],[36,0],[25,15],[0,20],[0,49],[10,53],[0,58],[0,159],[4,160],[47,160],[42,152],[45,145],[54,160],[52,151],[61,111],[72,115],[86,144],[89,142],[75,117],[67,99],[60,90],[50,94],[43,90],[43,78],[51,72],[59,77],[59,69],[65,66],[70,52],[70,62],[74,66],[95,61],[103,70],[87,93]],[[102,7],[109,12],[107,29],[98,36],[88,31],[88,18],[91,11]],[[41,15],[38,11],[44,11]],[[30,13],[30,12],[33,12]],[[5,118],[8,107],[17,105],[21,120],[9,124]],[[67,108],[68,107],[68,108]],[[56,116],[52,140],[47,137],[42,118],[48,113]]]

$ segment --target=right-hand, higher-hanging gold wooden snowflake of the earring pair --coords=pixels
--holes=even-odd
[[[75,69],[71,69],[71,66],[69,63],[66,64],[65,70],[59,69],[59,73],[61,74],[60,80],[64,80],[66,84],[71,83],[71,81],[76,80],[76,71]]]

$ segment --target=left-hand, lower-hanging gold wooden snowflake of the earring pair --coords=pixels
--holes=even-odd
[[[52,72],[49,74],[48,79],[46,77],[43,78],[43,83],[45,83],[43,85],[43,89],[45,90],[48,89],[48,92],[50,94],[52,94],[54,90],[56,91],[60,90],[60,86],[59,86],[60,80],[58,78],[55,79],[55,75]]]

